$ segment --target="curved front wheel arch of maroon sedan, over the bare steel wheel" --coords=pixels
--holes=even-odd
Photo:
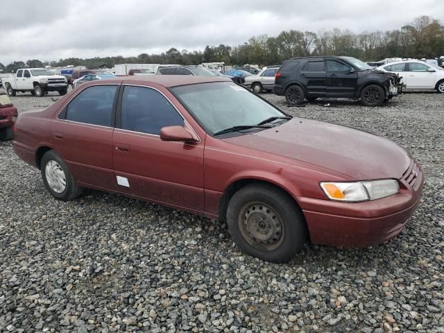
[[[228,209],[228,203],[230,203],[230,200],[234,194],[239,191],[239,189],[246,187],[250,184],[264,184],[264,185],[271,185],[272,187],[275,187],[275,189],[279,189],[284,194],[289,196],[291,200],[295,203],[296,207],[301,211],[300,205],[296,198],[291,195],[289,189],[287,187],[284,187],[284,185],[280,184],[279,182],[276,182],[275,180],[266,179],[266,178],[254,178],[254,177],[248,177],[248,178],[238,178],[235,180],[232,180],[230,184],[225,187],[225,190],[223,191],[223,194],[221,198],[219,199],[219,221],[226,221],[227,218],[227,209]],[[302,213],[302,216],[303,213]],[[304,216],[305,219],[305,216]],[[306,223],[306,222],[305,222]]]

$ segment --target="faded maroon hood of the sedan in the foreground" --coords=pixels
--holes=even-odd
[[[352,128],[293,118],[225,142],[315,164],[355,180],[402,178],[411,157],[397,144]]]

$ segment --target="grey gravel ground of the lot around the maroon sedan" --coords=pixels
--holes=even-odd
[[[51,96],[12,101],[23,112]],[[404,94],[382,108],[287,108],[264,96],[407,148],[426,185],[406,230],[269,264],[240,253],[216,221],[92,190],[54,200],[0,143],[0,331],[444,332],[444,96]]]

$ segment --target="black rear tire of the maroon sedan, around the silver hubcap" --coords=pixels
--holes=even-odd
[[[46,178],[46,165],[49,163],[55,162],[57,164],[57,169],[62,170],[65,176],[65,189],[62,191],[56,191],[49,185],[49,181]],[[59,169],[60,167],[60,169]],[[71,172],[68,169],[67,164],[64,160],[62,160],[62,157],[56,153],[56,151],[47,151],[40,161],[40,173],[42,174],[42,179],[44,182],[44,187],[49,191],[51,196],[58,200],[62,201],[69,201],[74,198],[77,198],[82,194],[83,187],[80,187],[77,185],[76,180],[74,179],[74,176],[72,176]],[[51,176],[51,172],[49,172]]]

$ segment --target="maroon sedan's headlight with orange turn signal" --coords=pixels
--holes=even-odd
[[[321,188],[331,200],[366,201],[397,194],[397,180],[383,179],[366,182],[321,182]]]

